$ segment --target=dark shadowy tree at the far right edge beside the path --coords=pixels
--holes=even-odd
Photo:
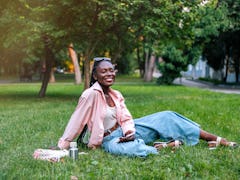
[[[213,69],[221,70],[225,67],[223,74],[224,82],[226,82],[230,69],[234,69],[236,82],[239,82],[240,1],[218,1],[217,9],[225,10],[223,14],[225,15],[224,19],[227,25],[220,29],[218,35],[210,37],[209,42],[205,45],[203,54]]]

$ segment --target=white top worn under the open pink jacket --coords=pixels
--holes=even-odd
[[[116,107],[107,106],[106,116],[103,121],[104,131],[107,132],[107,130],[111,129],[116,122]]]

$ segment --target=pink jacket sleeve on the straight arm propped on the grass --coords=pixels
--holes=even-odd
[[[70,142],[75,139],[83,130],[91,115],[91,103],[85,97],[80,97],[78,105],[73,112],[63,136],[58,141],[60,149],[68,149]]]

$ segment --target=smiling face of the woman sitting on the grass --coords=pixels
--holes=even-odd
[[[96,69],[95,79],[102,87],[110,87],[115,81],[116,72],[111,62],[102,61]]]

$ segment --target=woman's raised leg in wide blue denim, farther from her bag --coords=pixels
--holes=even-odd
[[[166,142],[179,140],[185,145],[193,146],[199,142],[199,125],[176,112],[162,111],[135,119],[134,122],[137,129],[136,135],[145,143],[151,143],[157,139]]]

